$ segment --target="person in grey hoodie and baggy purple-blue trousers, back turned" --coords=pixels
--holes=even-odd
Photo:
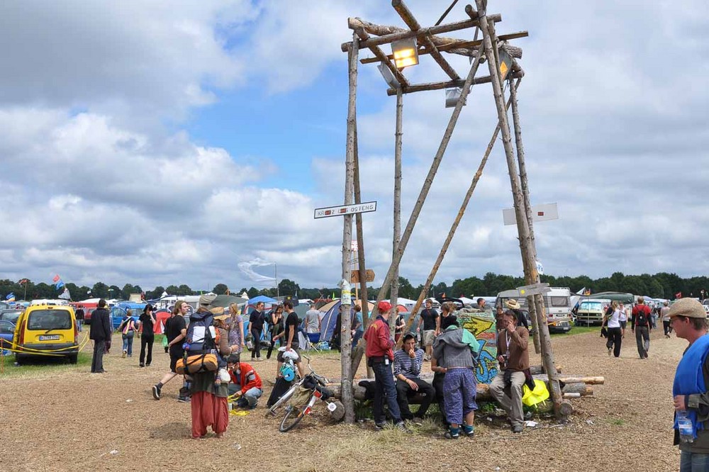
[[[450,427],[445,432],[447,439],[458,439],[460,428],[468,437],[473,437],[473,420],[478,405],[475,403],[477,379],[475,366],[480,352],[480,343],[468,330],[459,327],[457,320],[436,337],[433,343],[432,365],[445,373],[443,402],[445,417]]]

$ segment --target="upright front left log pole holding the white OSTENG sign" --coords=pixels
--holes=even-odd
[[[345,148],[345,205],[351,205],[354,199],[354,130],[357,121],[357,59],[359,56],[359,39],[357,33],[352,34],[348,69],[350,77],[350,93],[347,103],[347,146]],[[342,279],[350,282],[350,252],[352,250],[352,215],[344,215],[342,230]],[[342,288],[343,304],[350,306],[350,295]],[[346,313],[349,313],[347,310]],[[345,406],[345,422],[354,423],[354,397],[352,396],[352,349],[350,349],[350,323],[340,323],[340,344],[342,345],[342,404]]]

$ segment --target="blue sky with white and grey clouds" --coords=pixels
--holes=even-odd
[[[407,2],[424,26],[449,3]],[[532,203],[560,215],[535,226],[545,272],[708,274],[705,1],[490,0],[495,12],[498,34],[530,32],[514,44]],[[279,279],[334,286],[342,220],[313,209],[343,201],[348,16],[404,26],[378,0],[1,2],[0,278],[238,289],[272,284],[258,274],[275,263]],[[463,3],[446,22],[464,18]],[[445,79],[429,56],[405,74]],[[377,285],[395,98],[374,64],[360,67],[358,107]],[[403,225],[451,110],[442,91],[404,97]],[[495,125],[491,86],[475,86],[402,262],[414,285]],[[437,281],[521,274],[510,206],[498,141]]]

